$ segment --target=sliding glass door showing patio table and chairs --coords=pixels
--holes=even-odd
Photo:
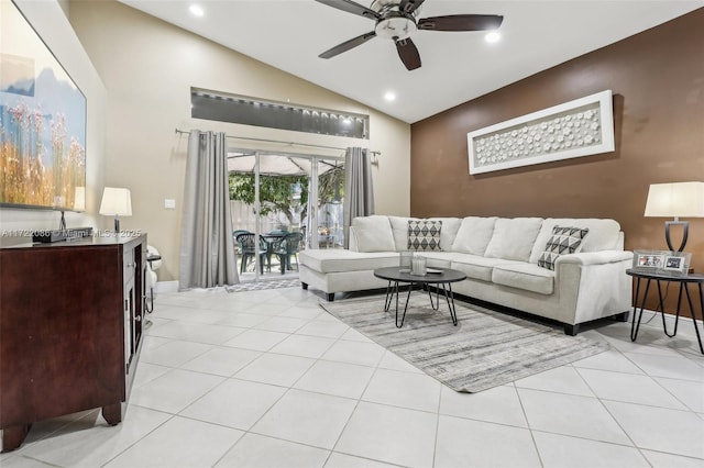
[[[229,168],[242,280],[297,277],[301,249],[342,246],[341,160],[233,151]]]

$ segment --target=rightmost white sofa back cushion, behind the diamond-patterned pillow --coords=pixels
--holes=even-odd
[[[554,226],[573,226],[590,230],[590,234],[582,242],[581,252],[623,250],[619,245],[620,225],[614,220],[593,218],[548,218],[542,222],[536,245],[530,253],[529,261],[537,264],[544,250],[548,239],[552,236]]]

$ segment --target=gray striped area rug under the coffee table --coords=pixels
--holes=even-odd
[[[460,392],[486,390],[609,347],[479,305],[455,304],[458,325],[453,326],[446,302],[435,312],[427,294],[414,292],[404,326],[396,328],[394,304],[384,312],[384,296],[320,303],[348,325]]]

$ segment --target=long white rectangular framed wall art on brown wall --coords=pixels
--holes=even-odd
[[[610,90],[468,133],[470,174],[613,152]]]

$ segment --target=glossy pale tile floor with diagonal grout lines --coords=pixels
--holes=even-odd
[[[124,422],[37,423],[15,467],[704,467],[691,321],[584,332],[612,349],[457,393],[299,288],[157,297]],[[391,324],[391,322],[389,322]],[[393,325],[393,324],[392,324]]]

